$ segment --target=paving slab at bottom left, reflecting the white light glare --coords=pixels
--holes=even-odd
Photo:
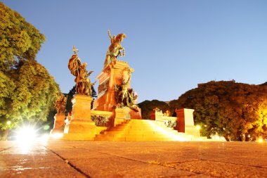
[[[0,177],[84,177],[44,146],[1,151]]]

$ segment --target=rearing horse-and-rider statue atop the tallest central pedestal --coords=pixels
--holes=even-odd
[[[117,36],[113,35],[113,37],[111,37],[110,30],[108,30],[108,36],[110,37],[111,44],[105,56],[104,68],[109,65],[110,61],[116,61],[117,56],[125,56],[125,51],[121,42],[126,38],[126,34],[118,34]]]

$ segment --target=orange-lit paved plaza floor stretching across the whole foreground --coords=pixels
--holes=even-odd
[[[0,177],[267,177],[267,143],[0,142]]]

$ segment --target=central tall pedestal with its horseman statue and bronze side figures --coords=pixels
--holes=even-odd
[[[141,109],[136,105],[137,94],[131,89],[131,73],[134,71],[128,63],[119,61],[119,56],[125,56],[122,40],[126,34],[110,37],[104,68],[97,76],[98,98],[93,103],[94,110],[112,111],[116,120],[141,119]]]

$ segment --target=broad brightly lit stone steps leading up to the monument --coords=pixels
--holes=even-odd
[[[96,141],[202,141],[203,136],[190,136],[166,127],[155,120],[129,120],[107,129],[95,137]],[[207,139],[207,138],[206,138]]]

